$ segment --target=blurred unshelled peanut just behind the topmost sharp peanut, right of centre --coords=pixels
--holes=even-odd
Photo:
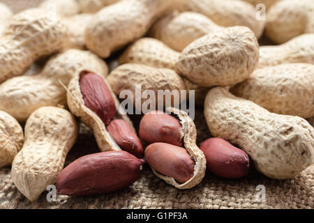
[[[194,40],[208,33],[221,31],[223,28],[200,13],[175,11],[156,22],[149,31],[149,36],[161,40],[168,47],[181,52]]]

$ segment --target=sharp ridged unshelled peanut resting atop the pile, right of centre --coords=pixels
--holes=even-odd
[[[229,86],[248,78],[258,57],[259,46],[253,32],[245,26],[234,26],[188,45],[176,70],[200,86]]]

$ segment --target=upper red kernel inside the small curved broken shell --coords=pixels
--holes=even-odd
[[[148,112],[140,121],[140,139],[147,144],[165,142],[182,146],[181,128],[179,120],[165,112]]]

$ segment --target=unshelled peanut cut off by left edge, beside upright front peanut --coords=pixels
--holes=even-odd
[[[0,111],[0,168],[13,162],[23,142],[21,125],[8,113]]]

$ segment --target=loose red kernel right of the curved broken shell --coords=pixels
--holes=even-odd
[[[207,170],[222,178],[241,178],[248,174],[250,158],[229,141],[211,138],[202,142],[200,149],[205,155]]]

